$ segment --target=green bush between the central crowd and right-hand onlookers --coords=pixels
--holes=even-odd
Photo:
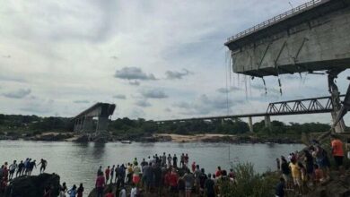
[[[275,184],[278,177],[260,176],[251,163],[238,164],[234,167],[237,184],[219,184],[221,196],[270,197],[275,196]]]

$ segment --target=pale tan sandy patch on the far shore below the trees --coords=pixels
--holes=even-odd
[[[194,135],[180,135],[171,133],[153,134],[153,137],[171,137],[171,141],[174,142],[191,142],[191,141],[203,141],[206,139],[213,139],[217,137],[235,137],[230,134],[194,134]]]

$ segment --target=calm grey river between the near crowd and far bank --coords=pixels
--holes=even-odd
[[[99,166],[107,167],[132,161],[133,158],[146,158],[162,152],[178,156],[188,153],[189,163],[196,161],[206,173],[213,173],[217,166],[230,168],[230,161],[251,162],[256,171],[262,173],[276,169],[276,158],[295,150],[302,150],[302,144],[228,144],[209,142],[156,142],[122,144],[120,142],[75,143],[43,141],[0,141],[0,162],[13,162],[13,159],[40,158],[48,160],[48,173],[61,176],[61,183],[70,188],[73,184],[83,183],[85,193],[94,186]],[[230,159],[229,159],[230,158]],[[34,169],[33,175],[39,173]]]

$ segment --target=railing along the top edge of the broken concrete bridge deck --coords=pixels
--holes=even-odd
[[[240,33],[228,38],[227,42],[231,42],[231,41],[234,41],[236,39],[241,39],[242,37],[244,37],[252,32],[264,29],[265,27],[267,27],[273,23],[284,20],[284,18],[287,18],[287,17],[289,17],[293,14],[296,14],[296,13],[302,13],[304,10],[309,9],[311,7],[314,7],[314,6],[317,6],[317,5],[319,5],[323,2],[326,2],[326,1],[329,1],[329,0],[312,0],[312,1],[307,2],[305,4],[301,4],[301,5],[293,8],[292,10],[289,10],[285,13],[278,14],[275,17],[268,19],[267,21],[263,21],[263,22],[259,23],[258,25],[255,25],[254,27],[249,28],[248,30],[241,31]]]

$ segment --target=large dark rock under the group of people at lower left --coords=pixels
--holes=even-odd
[[[40,197],[47,186],[51,186],[51,196],[58,196],[59,176],[44,173],[14,178],[6,188],[4,197]]]

